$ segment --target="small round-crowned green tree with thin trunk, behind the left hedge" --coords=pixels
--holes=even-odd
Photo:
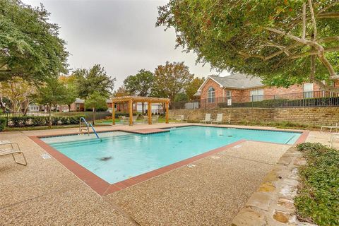
[[[38,89],[37,102],[47,105],[49,111],[49,128],[52,127],[52,107],[65,103],[65,86],[56,78],[49,78]]]

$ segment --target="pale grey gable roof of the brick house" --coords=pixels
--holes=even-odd
[[[208,79],[212,79],[215,83],[218,83],[221,88],[245,90],[264,86],[263,83],[261,83],[261,78],[248,76],[244,73],[234,73],[225,77],[211,75],[208,76],[200,88],[198,88],[198,92],[201,92],[201,89],[207,83]]]

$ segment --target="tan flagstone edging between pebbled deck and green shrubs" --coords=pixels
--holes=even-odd
[[[299,183],[298,167],[304,164],[302,153],[295,147],[289,148],[233,219],[232,226],[310,226],[297,220],[293,201]]]

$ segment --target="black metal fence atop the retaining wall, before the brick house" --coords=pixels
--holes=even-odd
[[[225,107],[331,107],[339,106],[339,93],[312,91],[282,95],[251,95],[211,97],[174,102],[172,109],[215,109]]]

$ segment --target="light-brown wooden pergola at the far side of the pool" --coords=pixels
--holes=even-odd
[[[166,112],[166,123],[168,124],[168,107],[169,99],[168,98],[157,98],[157,97],[138,97],[138,96],[124,96],[124,97],[113,97],[112,98],[112,121],[115,125],[115,103],[129,102],[129,125],[133,125],[133,102],[148,102],[147,114],[148,114],[148,124],[152,124],[152,103],[165,103],[165,112]]]

